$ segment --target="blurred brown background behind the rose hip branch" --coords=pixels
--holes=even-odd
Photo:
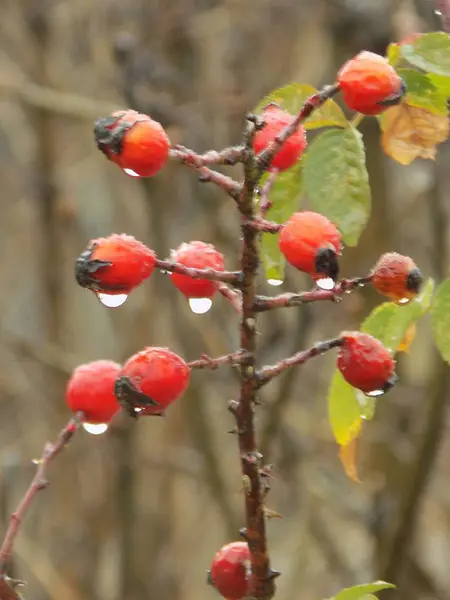
[[[290,81],[331,83],[361,49],[438,27],[432,0],[2,0],[0,3],[0,524],[5,529],[39,455],[68,419],[71,370],[122,361],[144,345],[187,359],[237,345],[218,298],[190,313],[156,274],[118,310],[76,285],[74,260],[93,237],[127,232],[164,257],[181,241],[217,244],[234,268],[232,203],[171,165],[124,176],[95,148],[92,121],[115,107],[148,112],[197,150],[239,139],[245,112]],[[344,275],[380,253],[410,254],[448,273],[450,147],[405,168],[363,124],[373,213]],[[309,282],[288,272],[283,289]],[[262,292],[274,293],[261,279]],[[260,359],[274,361],[358,327],[380,297],[261,318]],[[400,384],[379,401],[360,448],[363,485],[346,479],[327,422],[333,358],[264,390],[261,448],[274,463],[268,525],[279,598],[323,598],[385,578],[401,599],[450,598],[449,372],[420,323]],[[237,539],[243,498],[226,405],[237,380],[198,372],[166,419],[118,419],[75,438],[50,471],[16,544],[14,573],[33,600],[203,600],[214,552]]]

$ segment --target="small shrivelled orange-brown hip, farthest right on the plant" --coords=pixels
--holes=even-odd
[[[417,296],[422,283],[423,275],[413,259],[396,252],[383,254],[373,269],[374,288],[400,304]]]

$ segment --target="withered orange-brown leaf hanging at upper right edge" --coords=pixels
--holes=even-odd
[[[415,158],[434,159],[436,146],[449,135],[447,116],[406,102],[387,110],[380,123],[384,151],[402,165],[409,165]]]

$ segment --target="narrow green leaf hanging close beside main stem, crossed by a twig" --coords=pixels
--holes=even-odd
[[[284,223],[298,210],[303,196],[303,161],[299,160],[292,168],[279,173],[270,192],[272,207],[267,218],[276,223]],[[264,174],[261,186],[267,181],[269,174]],[[266,279],[282,281],[284,278],[285,259],[278,246],[278,235],[263,233],[261,236],[261,256]]]

